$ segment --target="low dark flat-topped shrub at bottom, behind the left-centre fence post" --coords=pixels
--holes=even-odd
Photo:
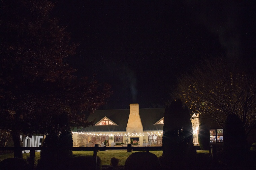
[[[97,156],[97,170],[101,170],[102,163],[99,156]],[[84,170],[94,169],[93,156],[75,156],[72,159],[70,170]]]

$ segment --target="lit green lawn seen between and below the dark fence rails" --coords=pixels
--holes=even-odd
[[[127,152],[126,150],[107,150],[107,151],[97,152],[97,156],[100,157],[103,166],[109,166],[110,159],[113,157],[120,159],[119,165],[124,165],[127,157],[134,152],[139,152],[139,151]],[[163,153],[163,151],[150,151],[150,152],[155,154],[157,157],[160,157]],[[197,154],[200,154],[200,155],[209,154],[209,151],[197,150]],[[93,151],[73,151],[73,156],[86,156],[86,155],[93,155]],[[27,159],[28,156],[29,156],[29,153],[23,154],[24,159]],[[13,153],[0,154],[0,161],[7,158],[13,158]],[[37,165],[38,159],[40,159],[40,152],[35,153],[35,166]]]

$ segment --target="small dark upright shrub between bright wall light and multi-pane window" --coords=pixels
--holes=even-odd
[[[209,150],[209,129],[202,122],[199,123],[198,143],[201,150]]]

